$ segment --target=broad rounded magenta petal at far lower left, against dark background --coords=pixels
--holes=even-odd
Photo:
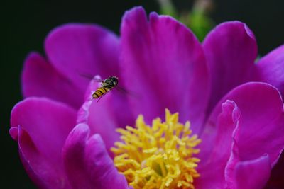
[[[14,139],[18,136],[23,165],[33,181],[44,188],[68,185],[61,151],[75,118],[75,110],[47,98],[26,98],[12,110],[10,133]],[[18,131],[13,129],[17,127]]]

